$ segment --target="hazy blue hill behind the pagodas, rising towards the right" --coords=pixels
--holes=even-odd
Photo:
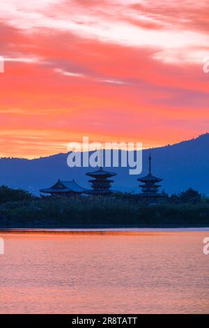
[[[209,133],[196,139],[143,151],[143,172],[148,170],[148,155],[153,157],[153,174],[162,177],[162,189],[177,193],[190,186],[209,195]],[[52,186],[57,179],[75,179],[84,188],[90,188],[85,172],[95,170],[86,167],[68,167],[68,154],[26,160],[0,158],[0,184],[12,188],[24,188],[38,195],[40,188]],[[139,192],[139,176],[129,175],[129,168],[111,167],[116,172],[113,188],[119,191]]]

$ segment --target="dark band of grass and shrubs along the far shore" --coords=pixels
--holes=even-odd
[[[0,228],[70,225],[209,226],[209,203],[148,207],[115,197],[78,197],[0,205]]]

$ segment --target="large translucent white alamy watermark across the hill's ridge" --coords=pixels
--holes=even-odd
[[[142,171],[141,142],[91,142],[83,137],[82,143],[68,144],[69,167],[130,167],[129,174]]]

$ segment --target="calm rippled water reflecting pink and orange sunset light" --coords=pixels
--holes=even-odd
[[[0,237],[0,313],[209,313],[207,230]]]

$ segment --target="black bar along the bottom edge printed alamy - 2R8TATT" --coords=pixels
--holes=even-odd
[[[115,325],[201,325],[208,322],[208,315],[138,315],[138,314],[66,314],[66,315],[44,315],[44,314],[26,314],[26,315],[0,315],[0,325],[10,324],[51,324],[61,327],[75,327],[86,325],[86,327],[107,327]],[[142,327],[142,326],[141,326]]]

